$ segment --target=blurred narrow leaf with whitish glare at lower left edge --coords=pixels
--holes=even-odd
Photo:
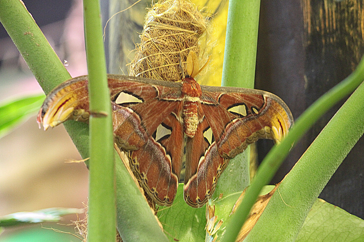
[[[77,208],[47,208],[33,212],[18,212],[0,217],[0,227],[24,225],[26,223],[55,222],[61,216],[73,213],[83,213]]]

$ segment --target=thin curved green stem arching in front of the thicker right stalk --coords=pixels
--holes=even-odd
[[[300,118],[298,118],[296,124],[292,127],[286,138],[282,140],[280,144],[274,145],[258,168],[252,185],[246,190],[241,205],[232,216],[231,223],[226,226],[226,233],[222,242],[235,240],[241,226],[248,217],[249,211],[256,201],[260,190],[272,179],[274,173],[276,173],[294,143],[298,141],[329,108],[354,91],[363,81],[363,77],[364,59],[362,58],[357,69],[349,75],[349,77],[345,78],[344,81],[340,82],[314,102]]]

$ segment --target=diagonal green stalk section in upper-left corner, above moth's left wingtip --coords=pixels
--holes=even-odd
[[[46,94],[71,78],[23,2],[0,0],[0,21]]]

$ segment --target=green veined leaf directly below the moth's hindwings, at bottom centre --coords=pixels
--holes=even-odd
[[[205,241],[206,206],[192,208],[183,200],[183,184],[178,185],[172,206],[160,207],[159,221],[170,241]]]

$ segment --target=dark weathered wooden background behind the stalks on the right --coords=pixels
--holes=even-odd
[[[352,73],[364,53],[363,36],[362,0],[262,0],[255,87],[281,97],[297,119],[317,98]],[[289,172],[344,101],[297,143],[272,184]],[[260,161],[272,144],[259,141]],[[362,137],[320,194],[320,198],[361,218],[363,151]]]

